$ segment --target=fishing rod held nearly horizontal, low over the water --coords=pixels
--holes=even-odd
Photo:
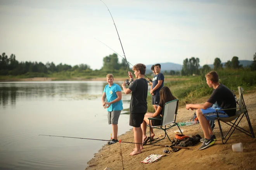
[[[104,139],[77,138],[77,137],[70,137],[70,136],[55,136],[55,135],[45,135],[45,134],[40,134],[39,136],[53,136],[53,137],[62,137],[62,138],[88,139],[88,140],[96,140],[96,141],[111,141],[111,140],[104,140]],[[121,142],[122,143],[141,144],[141,145],[151,145],[151,146],[162,146],[162,147],[167,147],[167,148],[178,148],[178,149],[187,149],[187,150],[190,149],[188,147],[182,147],[182,146],[144,144],[144,143],[125,142],[125,141],[119,140],[119,143],[121,143]]]

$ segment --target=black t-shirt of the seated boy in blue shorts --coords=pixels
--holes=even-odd
[[[222,109],[231,109],[237,107],[233,93],[223,84],[220,84],[216,89],[213,90],[213,93],[207,102],[212,104],[217,102],[218,107],[221,107]],[[228,116],[235,116],[236,109],[223,111],[227,113]]]

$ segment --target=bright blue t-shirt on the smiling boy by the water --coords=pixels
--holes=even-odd
[[[111,87],[109,87],[109,85],[106,85],[104,88],[104,92],[107,96],[107,102],[112,102],[117,98],[116,92],[121,92],[121,87],[115,83],[113,83]],[[113,110],[123,110],[122,100],[119,100],[118,102],[111,104],[110,107],[107,108],[108,112],[112,112]]]

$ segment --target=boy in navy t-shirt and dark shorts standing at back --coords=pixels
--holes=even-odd
[[[156,75],[154,76],[152,80],[152,86],[150,88],[150,94],[152,95],[152,105],[154,109],[157,109],[157,106],[160,102],[160,95],[159,91],[164,86],[164,75],[160,73],[161,71],[161,65],[156,64],[154,67],[154,70],[156,72]]]

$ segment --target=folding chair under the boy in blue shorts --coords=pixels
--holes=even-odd
[[[235,129],[241,131],[244,134],[247,134],[248,136],[251,136],[252,138],[255,138],[255,135],[254,135],[254,132],[253,132],[253,127],[252,127],[251,121],[249,119],[248,111],[247,111],[246,105],[244,103],[243,90],[244,90],[244,88],[242,88],[240,86],[238,87],[239,99],[238,99],[238,103],[237,103],[237,108],[235,108],[235,109],[237,109],[237,112],[236,112],[235,116],[225,117],[225,118],[221,118],[221,117],[216,118],[217,121],[218,121],[218,124],[219,124],[220,135],[221,135],[221,140],[222,140],[223,144],[225,144],[228,141],[228,139],[233,134]],[[227,109],[221,109],[221,110],[225,111]],[[218,112],[217,109],[216,109],[216,112]],[[240,126],[238,126],[240,121],[242,120],[242,118],[244,116],[246,116],[250,131],[247,131],[247,130],[241,128]],[[222,128],[221,128],[220,121],[224,122],[225,124],[228,124],[229,126],[231,126],[231,128],[229,129],[229,131],[225,135],[225,137],[223,135],[223,131],[222,131]],[[232,121],[234,121],[234,122],[232,122]],[[224,141],[225,139],[226,139],[226,141]]]

